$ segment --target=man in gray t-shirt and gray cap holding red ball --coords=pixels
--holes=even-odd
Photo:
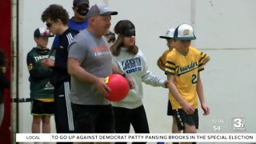
[[[123,72],[113,68],[110,48],[103,35],[110,29],[111,15],[116,14],[103,3],[92,6],[86,15],[88,27],[70,43],[70,100],[77,133],[114,133],[113,109],[105,98],[110,88],[105,78]]]

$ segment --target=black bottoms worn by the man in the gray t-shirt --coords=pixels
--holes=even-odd
[[[86,106],[71,103],[75,133],[114,133],[111,105]]]

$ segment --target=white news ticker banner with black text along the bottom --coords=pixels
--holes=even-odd
[[[256,142],[256,134],[16,134],[16,142]]]

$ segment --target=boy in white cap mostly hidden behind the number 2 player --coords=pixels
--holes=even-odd
[[[171,50],[174,49],[174,47],[176,47],[176,40],[174,39],[174,28],[171,28],[169,29],[167,32],[166,32],[166,35],[165,36],[160,36],[159,38],[164,38],[166,39],[166,42],[167,42],[167,46],[168,46],[168,50],[166,50],[162,56],[160,58],[158,58],[158,67],[159,69],[165,71],[166,70],[166,56],[167,54],[170,53]],[[173,116],[173,109],[172,109],[172,106],[171,106],[171,103],[170,101],[168,100],[168,106],[167,106],[167,115],[170,115],[170,116]],[[177,127],[177,124],[175,118],[173,118],[173,126],[172,126],[172,132],[173,133],[179,133],[178,131],[178,127]]]

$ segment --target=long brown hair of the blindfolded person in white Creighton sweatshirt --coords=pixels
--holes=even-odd
[[[117,40],[110,47],[111,52],[114,56],[118,56],[120,54],[121,47],[123,46],[123,34],[125,34],[125,31],[129,29],[135,29],[134,24],[129,20],[121,20],[114,26],[114,33],[118,34]],[[130,46],[127,51],[135,55],[138,53],[138,46],[136,46],[134,43],[134,46]]]

